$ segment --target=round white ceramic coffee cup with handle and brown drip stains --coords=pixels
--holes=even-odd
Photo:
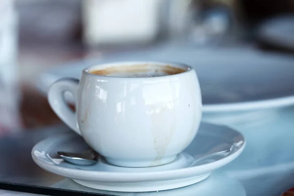
[[[65,102],[67,91],[76,112]],[[162,62],[93,66],[83,70],[79,81],[65,78],[52,84],[48,100],[89,146],[122,167],[172,162],[194,139],[202,113],[195,70]]]

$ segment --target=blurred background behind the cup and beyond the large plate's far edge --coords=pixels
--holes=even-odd
[[[294,0],[0,0],[0,134],[60,122],[35,88],[53,66],[162,43],[294,54],[293,26]]]

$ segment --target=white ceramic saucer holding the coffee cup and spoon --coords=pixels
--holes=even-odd
[[[201,123],[196,138],[172,163],[150,168],[116,167],[100,160],[94,166],[64,162],[57,151],[83,151],[88,148],[75,134],[59,135],[39,142],[32,149],[33,160],[43,169],[72,178],[95,189],[120,192],[169,190],[195,184],[211,172],[237,158],[245,147],[243,135],[226,126]],[[219,151],[228,151],[216,154]],[[209,158],[201,159],[203,156]],[[213,156],[212,156],[213,155]]]

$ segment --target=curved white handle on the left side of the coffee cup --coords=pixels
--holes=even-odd
[[[57,116],[72,128],[73,131],[81,135],[76,113],[68,106],[64,98],[64,93],[68,91],[73,95],[73,99],[76,100],[78,82],[77,79],[73,78],[65,78],[56,81],[49,89],[48,101]]]

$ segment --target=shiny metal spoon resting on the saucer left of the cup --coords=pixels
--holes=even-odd
[[[87,165],[93,165],[98,162],[98,159],[100,155],[95,152],[88,152],[88,153],[74,153],[74,152],[63,152],[58,151],[58,156],[62,158],[63,160],[72,163],[74,165],[81,165],[81,166],[87,166]]]

